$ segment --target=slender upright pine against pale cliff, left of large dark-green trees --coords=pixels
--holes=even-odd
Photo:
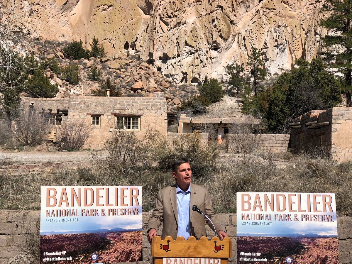
[[[264,62],[260,59],[260,52],[257,48],[252,47],[251,55],[247,59],[247,66],[251,69],[250,75],[253,78],[254,95],[257,95],[258,81],[263,81],[266,75]]]

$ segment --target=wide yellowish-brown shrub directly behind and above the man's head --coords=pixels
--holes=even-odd
[[[220,149],[212,142],[202,143],[199,131],[185,133],[180,140],[175,140],[172,146],[165,137],[159,136],[155,142],[153,155],[157,158],[159,168],[170,170],[171,163],[177,158],[189,160],[194,176],[206,176],[216,167]]]

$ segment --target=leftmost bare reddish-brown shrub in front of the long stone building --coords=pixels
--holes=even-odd
[[[43,113],[35,109],[24,108],[15,121],[13,138],[24,146],[35,146],[49,135],[51,126],[46,123]]]

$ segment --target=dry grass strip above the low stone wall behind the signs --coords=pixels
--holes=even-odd
[[[219,161],[193,182],[209,189],[217,212],[235,212],[237,192],[335,193],[339,215],[352,213],[352,162],[335,164],[328,159],[295,156],[285,163],[255,158]],[[135,167],[115,177],[108,167],[0,176],[1,209],[39,209],[41,186],[142,186],[143,210],[155,206],[157,191],[174,184],[171,172],[153,166]]]

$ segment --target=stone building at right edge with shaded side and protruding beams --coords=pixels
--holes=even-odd
[[[296,152],[330,152],[335,161],[352,159],[352,107],[313,110],[291,126],[291,149]]]

